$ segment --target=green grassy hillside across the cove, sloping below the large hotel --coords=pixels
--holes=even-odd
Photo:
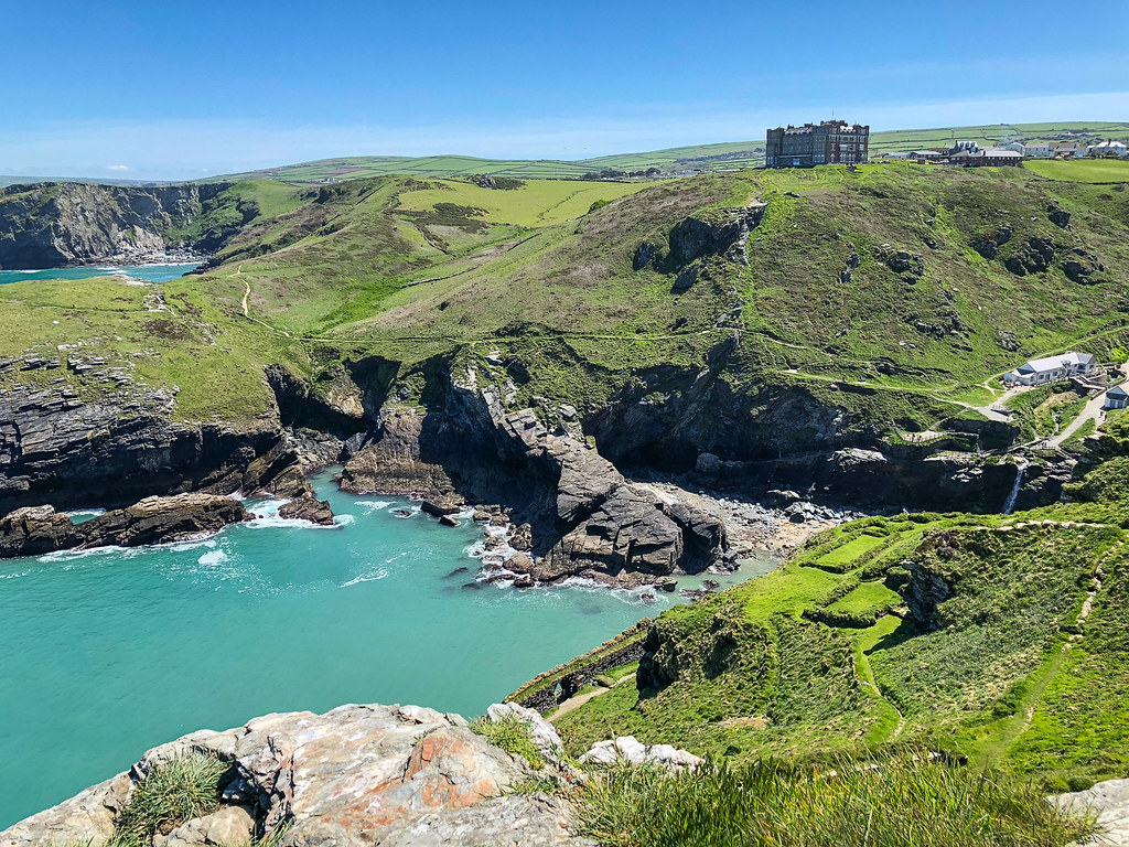
[[[1104,359],[1126,343],[1123,185],[885,165],[649,185],[382,177],[233,191],[262,213],[217,267],[161,290],[209,344],[251,357],[248,381],[271,360],[313,376],[375,355],[406,376],[437,355],[498,350],[520,363],[515,403],[544,395],[593,412],[633,374],[701,367],[734,339],[719,377],[753,420],[780,391],[802,390],[896,434],[978,417],[995,377],[1031,356],[1082,348]],[[633,270],[640,245],[671,250],[680,221],[720,226],[752,201],[768,206],[744,261],[704,255],[685,289],[659,260]],[[1051,210],[1070,215],[1066,228]],[[1043,243],[1049,262],[1033,254]],[[32,308],[52,290],[64,302],[76,285],[0,294]],[[114,348],[99,340],[102,316],[58,312],[60,338]],[[0,341],[0,356],[21,339]],[[261,395],[236,382],[234,393]],[[183,395],[184,413],[229,411],[224,392],[208,394]]]

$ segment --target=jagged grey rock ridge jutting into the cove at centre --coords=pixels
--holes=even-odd
[[[452,508],[506,501],[527,516],[519,535],[532,553],[508,567],[543,582],[649,582],[699,571],[727,549],[719,521],[685,506],[672,510],[567,430],[551,433],[533,410],[507,411],[474,370],[445,387],[441,411],[383,413],[373,443],[347,462],[342,488],[413,494]]]

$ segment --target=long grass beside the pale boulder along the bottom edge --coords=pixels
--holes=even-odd
[[[1094,830],[1030,785],[918,754],[821,774],[620,768],[586,786],[581,817],[607,847],[1065,847]]]

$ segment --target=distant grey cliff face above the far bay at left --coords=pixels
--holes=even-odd
[[[11,185],[0,190],[0,269],[142,263],[213,253],[257,215],[253,204],[224,197],[229,187]],[[221,207],[224,213],[216,213]]]

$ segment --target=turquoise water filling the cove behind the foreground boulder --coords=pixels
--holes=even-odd
[[[481,714],[675,602],[479,585],[473,523],[316,488],[343,525],[0,562],[0,829],[201,727],[344,702]]]

